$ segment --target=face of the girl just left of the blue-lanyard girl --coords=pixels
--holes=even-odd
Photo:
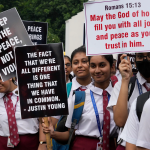
[[[84,52],[78,52],[74,55],[72,70],[77,78],[85,78],[90,75],[88,57]]]

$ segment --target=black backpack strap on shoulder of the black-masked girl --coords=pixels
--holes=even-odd
[[[136,76],[130,78],[129,85],[128,85],[128,101],[133,93],[135,87],[135,81],[136,81]]]

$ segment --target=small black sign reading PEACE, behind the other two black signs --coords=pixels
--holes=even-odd
[[[24,26],[28,32],[33,45],[47,44],[47,22],[24,21]]]

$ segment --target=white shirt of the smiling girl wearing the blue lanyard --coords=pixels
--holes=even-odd
[[[79,124],[75,126],[75,135],[83,135],[83,136],[89,136],[89,137],[100,137],[100,133],[97,126],[97,120],[95,116],[95,111],[93,108],[93,103],[91,100],[90,90],[93,92],[95,102],[97,105],[101,128],[103,124],[103,90],[100,88],[97,88],[91,83],[91,86],[89,89],[85,91],[85,103],[83,107],[83,112],[79,121]],[[105,89],[110,95],[112,91],[112,85],[111,83]],[[66,121],[66,127],[71,128],[71,122],[72,122],[72,114],[74,110],[74,101],[75,101],[75,95],[72,97],[72,100],[68,101],[69,105],[69,115],[67,117]],[[113,120],[113,113],[110,112],[110,134],[112,135],[116,131],[116,125]],[[102,132],[103,133],[103,132]]]

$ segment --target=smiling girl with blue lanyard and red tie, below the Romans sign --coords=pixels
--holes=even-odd
[[[113,113],[106,109],[112,91],[110,81],[113,64],[112,55],[89,57],[90,73],[93,82],[85,91],[85,103],[83,112],[75,129],[75,139],[72,150],[96,150],[103,147],[104,150],[114,150],[113,134],[116,125],[113,121]],[[72,114],[74,110],[75,96],[69,103],[69,115],[66,127],[71,128]]]

